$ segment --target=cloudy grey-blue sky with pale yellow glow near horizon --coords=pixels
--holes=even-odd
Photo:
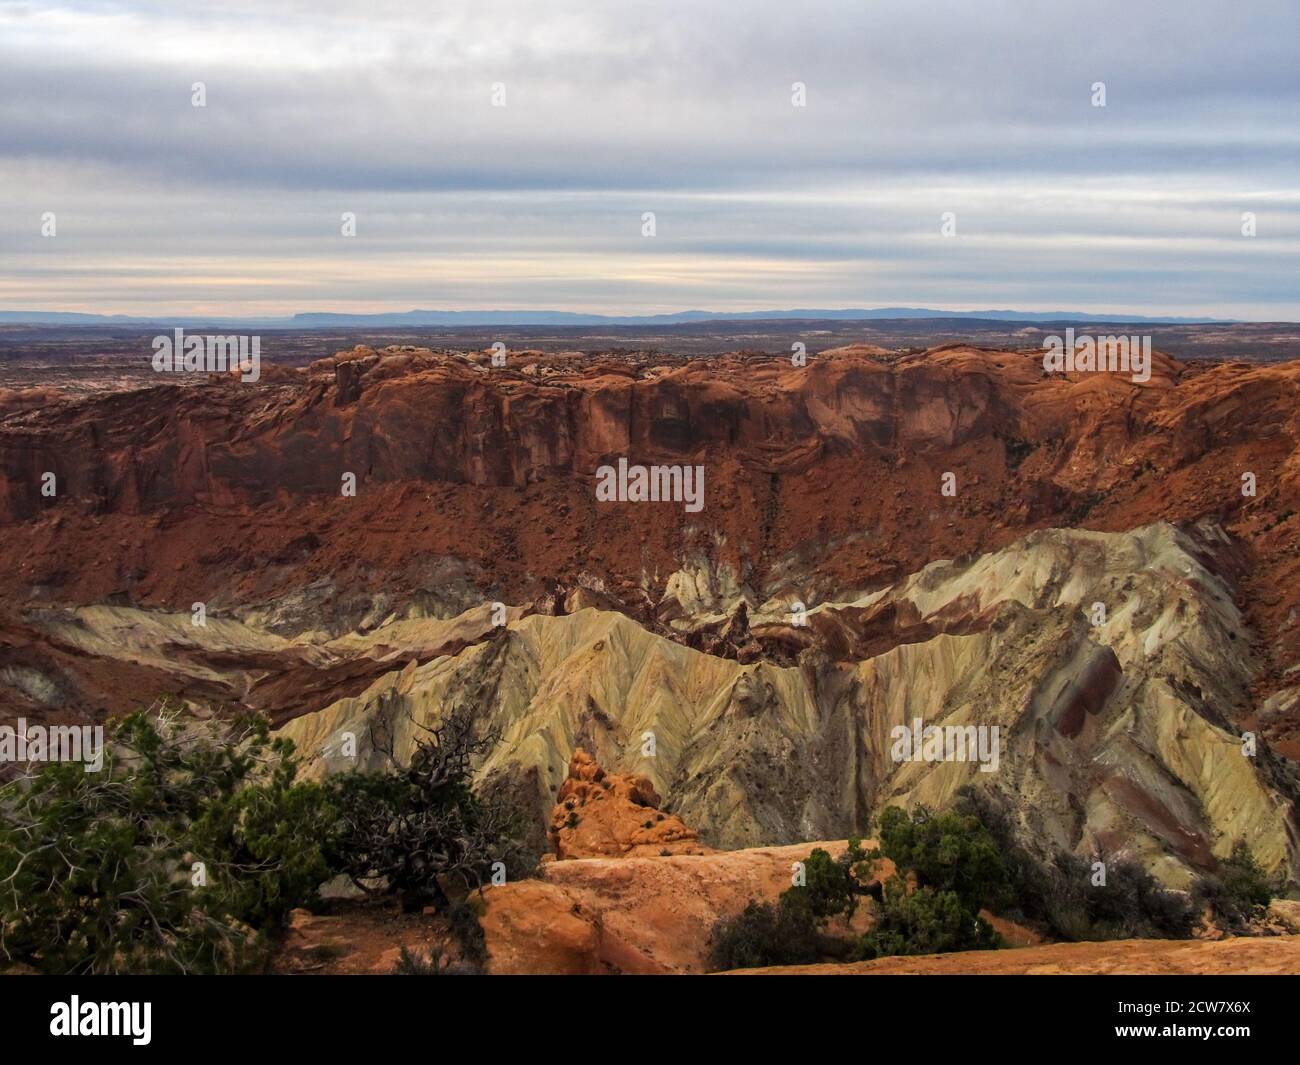
[[[1297,60],[1295,0],[0,0],[0,309],[1300,320]]]

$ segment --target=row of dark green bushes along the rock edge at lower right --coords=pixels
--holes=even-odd
[[[803,862],[805,883],[772,902],[751,901],[714,931],[715,970],[819,961],[867,961],[894,954],[982,951],[1002,945],[985,914],[1010,917],[1066,940],[1186,939],[1202,919],[1221,931],[1249,934],[1280,884],[1238,844],[1214,874],[1192,891],[1162,887],[1138,861],[1108,856],[1105,879],[1095,861],[1060,853],[1031,856],[988,795],[966,789],[957,806],[887,808],[879,845],[858,839],[832,860],[815,849]],[[875,860],[894,873],[874,879]],[[848,931],[859,905],[872,909],[871,927]]]

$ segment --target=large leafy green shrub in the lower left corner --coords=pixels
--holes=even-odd
[[[261,718],[136,711],[103,767],[0,787],[0,956],[43,973],[255,967],[330,870],[324,791]]]

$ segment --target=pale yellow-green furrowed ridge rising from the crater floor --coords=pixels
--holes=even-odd
[[[484,778],[523,772],[549,809],[585,748],[645,776],[711,847],[844,836],[881,805],[945,806],[975,785],[1008,800],[1045,857],[1130,849],[1186,884],[1245,840],[1294,874],[1290,770],[1247,756],[1232,724],[1252,662],[1217,568],[1230,555],[1213,527],[1035,533],[818,606],[803,628],[850,648],[911,620],[888,650],[842,659],[812,642],[789,666],[696,651],[618,612],[530,615],[285,732],[308,757],[350,732],[367,765],[372,730],[410,752],[421,723],[472,702],[502,730]],[[996,727],[996,761],[898,761],[893,730],[915,719]]]

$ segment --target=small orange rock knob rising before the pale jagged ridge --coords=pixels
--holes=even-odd
[[[562,860],[714,853],[680,817],[659,810],[659,795],[647,778],[607,774],[582,748],[569,759],[549,839]]]

